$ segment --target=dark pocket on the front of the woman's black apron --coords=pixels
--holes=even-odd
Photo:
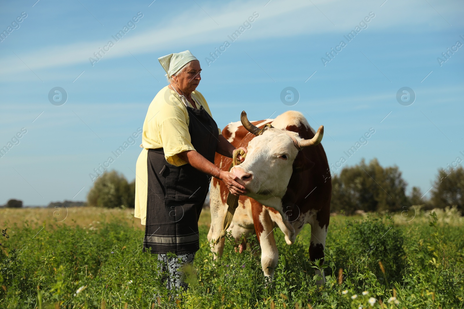
[[[166,199],[194,204],[206,195],[208,177],[190,164],[166,164],[163,176]]]

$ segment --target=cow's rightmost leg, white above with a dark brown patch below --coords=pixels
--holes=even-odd
[[[326,214],[327,213],[327,214]],[[309,219],[309,224],[311,225],[311,241],[309,244],[309,259],[311,262],[316,261],[316,259],[321,259],[321,262],[324,262],[324,248],[325,248],[325,239],[327,236],[327,229],[329,227],[329,213],[322,212],[321,210],[313,214]],[[326,218],[327,217],[327,218]],[[321,285],[325,283],[324,271],[317,269],[316,275],[321,275],[322,279],[317,280],[316,284]]]

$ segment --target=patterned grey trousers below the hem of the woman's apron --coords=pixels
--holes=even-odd
[[[166,254],[158,254],[160,261],[162,282],[166,283],[168,290],[187,290],[188,284],[185,282],[186,276],[181,267],[193,265],[195,252],[177,254],[177,257],[168,257]]]

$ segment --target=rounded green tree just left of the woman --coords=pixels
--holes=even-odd
[[[98,177],[87,195],[87,204],[105,208],[134,208],[135,181],[127,179],[115,170]]]

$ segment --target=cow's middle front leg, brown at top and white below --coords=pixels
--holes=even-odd
[[[261,247],[261,267],[263,268],[266,280],[271,281],[274,276],[274,269],[279,260],[279,252],[277,251],[276,240],[274,239],[274,222],[267,209],[264,207],[259,209],[252,208],[253,223],[255,225],[256,235],[258,236],[259,245]]]

